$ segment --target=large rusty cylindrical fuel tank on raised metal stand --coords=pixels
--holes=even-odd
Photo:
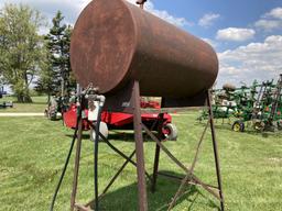
[[[218,59],[204,41],[123,0],[91,1],[70,43],[77,81],[115,95],[130,80],[142,96],[193,97],[213,86]]]

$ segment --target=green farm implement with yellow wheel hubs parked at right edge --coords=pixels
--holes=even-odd
[[[274,80],[236,88],[225,85],[214,90],[213,111],[215,119],[235,119],[231,129],[243,132],[246,124],[258,132],[282,129],[282,75]],[[207,118],[203,110],[198,120]]]

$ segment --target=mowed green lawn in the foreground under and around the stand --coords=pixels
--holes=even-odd
[[[195,121],[198,112],[173,116],[178,129],[178,140],[166,142],[172,153],[187,167],[191,165],[204,124]],[[226,210],[280,211],[282,209],[282,134],[257,134],[230,131],[230,125],[216,124],[223,187]],[[73,131],[61,121],[51,122],[43,118],[0,118],[0,210],[48,210]],[[111,132],[111,143],[123,153],[134,148],[132,133]],[[155,144],[148,137],[144,142],[145,167],[152,174]],[[210,132],[207,133],[196,175],[204,181],[216,185]],[[99,144],[99,191],[122,165],[123,158],[105,143]],[[74,155],[58,193],[56,209],[69,210],[74,169]],[[161,153],[161,171],[183,176],[169,157]],[[93,142],[84,136],[78,202],[88,202],[94,196]],[[150,182],[148,181],[148,187]],[[158,189],[148,188],[149,210],[166,210],[178,184],[159,177]],[[101,210],[138,210],[137,176],[132,165],[124,171],[100,201]],[[218,210],[218,201],[200,187],[186,187],[177,200],[176,211]]]

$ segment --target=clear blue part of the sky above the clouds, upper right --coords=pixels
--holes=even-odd
[[[215,40],[217,31],[227,27],[252,29],[253,24],[260,20],[261,15],[274,8],[282,7],[282,0],[152,0],[154,7],[165,10],[174,16],[183,16],[192,25],[183,25],[186,31],[199,36]],[[210,26],[200,26],[198,21],[205,14],[218,14]],[[282,26],[276,30],[276,34],[282,34]],[[261,42],[270,33],[257,32],[252,42]],[[217,51],[234,48],[245,42],[218,42]]]

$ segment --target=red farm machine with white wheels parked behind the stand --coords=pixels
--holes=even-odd
[[[76,126],[76,104],[72,104],[63,115],[64,115],[64,123],[67,127],[75,129]],[[144,102],[141,101],[141,108],[154,108],[160,109],[160,103],[155,101]],[[84,111],[84,116],[87,119],[88,110]],[[152,131],[158,131],[158,124],[155,121],[159,119],[159,113],[143,113],[141,114],[142,122]],[[176,140],[177,138],[177,130],[174,124],[172,124],[172,116],[169,113],[164,113],[163,115],[163,127],[162,133],[166,140]],[[115,130],[133,130],[133,114],[130,113],[121,113],[121,112],[108,112],[104,111],[101,113],[101,121],[100,124],[100,132],[107,136],[108,129]],[[90,130],[88,122],[85,120],[83,121],[84,130]]]

